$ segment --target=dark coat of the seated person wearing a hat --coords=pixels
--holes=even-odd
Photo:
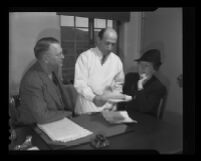
[[[166,95],[166,88],[155,76],[152,76],[144,84],[143,89],[138,91],[138,80],[138,73],[128,73],[126,75],[123,93],[132,96],[133,99],[130,102],[119,104],[119,108],[126,109],[129,114],[137,111],[156,116],[160,99]]]

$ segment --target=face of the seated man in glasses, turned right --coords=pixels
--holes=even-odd
[[[54,43],[50,45],[48,50],[48,64],[53,67],[61,67],[63,64],[64,55],[62,53],[62,48],[60,44]]]

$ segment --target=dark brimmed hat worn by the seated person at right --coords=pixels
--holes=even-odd
[[[155,65],[161,65],[160,51],[157,49],[150,49],[146,51],[141,58],[135,59],[134,61],[146,61]]]

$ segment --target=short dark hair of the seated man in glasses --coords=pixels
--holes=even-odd
[[[59,41],[53,37],[44,37],[37,41],[34,47],[34,54],[37,59],[40,59],[42,54],[48,51],[51,44],[59,43]]]

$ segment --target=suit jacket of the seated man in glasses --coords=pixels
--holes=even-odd
[[[71,115],[73,102],[62,83],[53,73],[57,85],[36,62],[23,76],[20,84],[19,122],[48,123]],[[57,87],[58,86],[58,87]]]

